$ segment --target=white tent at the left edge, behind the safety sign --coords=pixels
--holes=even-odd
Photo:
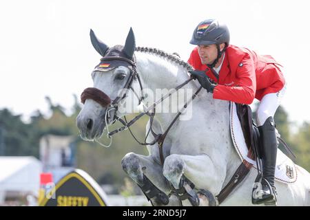
[[[0,204],[7,192],[37,196],[42,165],[35,157],[0,157]]]

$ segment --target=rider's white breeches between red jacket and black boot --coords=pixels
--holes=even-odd
[[[260,104],[258,105],[258,109],[256,110],[256,124],[257,126],[262,126],[267,118],[270,116],[274,116],[276,110],[278,109],[283,96],[285,95],[287,85],[278,92],[274,94],[267,94],[262,97],[260,100]]]

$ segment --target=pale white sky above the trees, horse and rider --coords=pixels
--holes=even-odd
[[[227,23],[231,44],[281,63],[287,80],[282,107],[289,120],[310,122],[310,1],[0,1],[0,109],[27,118],[48,114],[49,96],[70,113],[74,94],[92,87],[100,55],[90,28],[107,45],[123,45],[130,27],[136,46],[177,52],[187,61],[196,25]]]

